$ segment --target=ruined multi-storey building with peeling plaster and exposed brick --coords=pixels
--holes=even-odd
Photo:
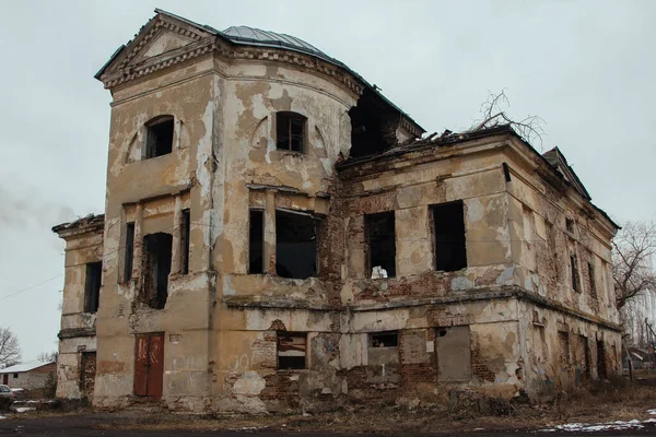
[[[58,395],[190,411],[512,398],[619,371],[617,225],[507,126],[423,129],[309,44],[156,11],[97,73]]]

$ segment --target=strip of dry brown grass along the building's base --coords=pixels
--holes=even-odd
[[[656,408],[656,387],[596,382],[573,390],[564,401],[565,417],[559,417],[553,403],[515,405],[511,414],[484,416],[453,414],[446,405],[420,405],[408,409],[398,405],[349,406],[336,412],[309,416],[230,415],[220,417],[176,415],[172,413],[121,412],[109,415],[99,428],[143,430],[211,430],[258,428],[271,432],[337,432],[337,433],[453,433],[483,428],[540,428],[566,422],[600,423],[645,420],[648,409]]]

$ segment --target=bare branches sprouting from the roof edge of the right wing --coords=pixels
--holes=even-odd
[[[531,141],[539,140],[541,149],[542,135],[544,134],[542,125],[546,121],[538,116],[527,116],[520,120],[515,120],[502,109],[504,106],[511,106],[511,102],[505,94],[505,88],[499,94],[489,92],[488,101],[481,104],[482,120],[477,120],[469,130],[477,131],[494,128],[500,125],[509,125],[525,141],[530,143]]]

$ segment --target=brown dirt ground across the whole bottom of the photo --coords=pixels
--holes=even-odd
[[[654,380],[656,381],[656,379]],[[656,422],[656,386],[652,380],[640,383],[595,382],[586,389],[576,389],[559,397],[557,402],[507,403],[499,402],[484,413],[470,405],[445,402],[443,405],[423,405],[421,402],[406,405],[351,405],[335,412],[293,415],[188,415],[156,411],[145,406],[107,413],[77,411],[28,412],[10,414],[0,421],[3,428],[31,418],[56,420],[69,416],[74,422],[86,423],[86,428],[96,430],[164,432],[186,430],[191,433],[235,430],[269,433],[373,433],[373,434],[490,434],[508,430],[536,430],[564,423],[608,423],[614,421]],[[0,413],[3,414],[3,413]],[[71,417],[72,418],[72,417]],[[86,421],[86,422],[84,422]],[[648,426],[654,429],[654,424]],[[645,429],[643,429],[645,432]]]

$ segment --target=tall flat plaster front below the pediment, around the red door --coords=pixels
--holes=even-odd
[[[202,409],[209,394],[208,347],[214,275],[210,269],[213,121],[218,101],[211,58],[183,64],[115,90],[107,170],[105,297],[98,310],[98,355],[94,404],[120,405],[132,394],[134,334],[165,332],[164,397]],[[144,125],[161,115],[175,120],[173,151],[142,160]],[[169,276],[166,307],[138,300],[142,238],[174,236],[179,251],[179,215],[190,209],[189,274]],[[132,280],[122,281],[126,223],[136,223]],[[176,261],[174,260],[174,263]]]

